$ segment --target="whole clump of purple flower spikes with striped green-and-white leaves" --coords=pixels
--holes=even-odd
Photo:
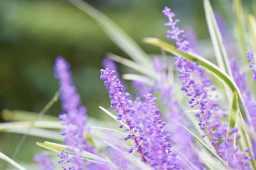
[[[163,23],[166,41],[170,39],[173,45],[158,38],[145,38],[144,43],[157,46],[162,52],[149,57],[100,11],[83,1],[70,0],[70,3],[99,22],[109,38],[132,60],[110,53],[102,61],[99,78],[109,94],[110,104],[100,109],[113,118],[113,122],[102,124],[86,114],[72,80],[70,64],[64,57],[56,58],[54,76],[60,90],[45,108],[49,109],[60,94],[59,121],[36,120],[33,124],[38,129],[44,129],[45,125],[59,129],[61,136],[54,131],[55,136],[49,138],[62,143],[37,143],[57,152],[35,155],[39,167],[256,169],[256,101],[253,94],[256,18],[250,15],[248,19],[250,44],[246,41],[241,1],[234,1],[237,49],[241,57],[231,58],[225,48],[227,31],[223,34],[220,16],[216,19],[209,0],[204,0],[216,62],[198,55],[200,46],[196,36],[193,30],[190,34],[194,35],[189,35],[179,26],[175,9],[166,6],[162,11],[166,20]],[[189,39],[193,39],[192,42]],[[137,74],[119,74],[116,63],[134,69]],[[247,69],[240,64],[246,64]],[[122,78],[132,81],[135,94],[129,92]],[[9,162],[18,169],[24,168],[14,160]]]

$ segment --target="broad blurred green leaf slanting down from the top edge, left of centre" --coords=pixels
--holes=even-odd
[[[151,60],[139,45],[110,18],[93,8],[90,4],[81,0],[68,0],[79,10],[84,11],[90,17],[98,22],[100,27],[106,32],[109,38],[116,43],[125,53],[127,53],[134,61],[143,66],[151,67]]]

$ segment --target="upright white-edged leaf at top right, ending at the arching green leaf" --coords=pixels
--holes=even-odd
[[[205,17],[207,20],[208,29],[211,35],[212,45],[221,70],[225,71],[232,77],[232,71],[228,61],[227,52],[221,38],[220,29],[214,17],[209,0],[204,0]]]

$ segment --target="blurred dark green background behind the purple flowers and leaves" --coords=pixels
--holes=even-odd
[[[90,0],[86,1],[120,25],[147,53],[160,53],[158,48],[141,43],[144,37],[166,40],[166,18],[161,13],[169,6],[180,19],[180,27],[193,28],[198,40],[198,53],[213,57],[204,7],[200,0]],[[225,32],[232,39],[231,1],[211,1],[222,17]],[[243,1],[245,13],[252,12],[251,1]],[[222,32],[223,33],[223,32]],[[202,47],[203,46],[203,47]],[[202,47],[202,48],[200,48]],[[109,106],[108,93],[99,79],[101,61],[106,52],[127,57],[83,11],[68,1],[0,0],[0,110],[26,110],[38,113],[58,90],[52,66],[62,55],[70,62],[74,83],[90,117],[102,118],[98,106]],[[229,50],[236,55],[236,50]],[[129,73],[125,66],[120,73]],[[129,82],[128,82],[129,85]],[[131,90],[131,89],[129,89]],[[132,90],[131,90],[132,91]],[[61,112],[58,101],[47,115]],[[0,119],[4,122],[3,118]],[[12,156],[22,135],[0,133],[0,152]],[[27,137],[15,160],[33,162],[42,149]],[[1,167],[7,165],[0,160]]]

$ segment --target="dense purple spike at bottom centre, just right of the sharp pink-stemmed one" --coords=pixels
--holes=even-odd
[[[143,154],[146,155],[148,164],[155,169],[179,169],[180,162],[176,153],[171,150],[173,145],[169,141],[170,134],[164,131],[166,122],[161,120],[161,113],[156,107],[156,97],[147,94],[144,99],[144,103],[141,103],[140,99],[135,101],[143,125],[139,134],[145,137],[141,143],[144,146]]]

